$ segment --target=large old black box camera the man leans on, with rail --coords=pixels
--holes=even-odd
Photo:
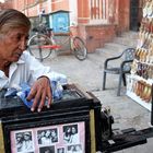
[[[19,97],[5,98],[1,94],[0,152],[16,152],[20,149],[17,136],[25,132],[31,133],[33,148],[30,152],[33,153],[43,152],[46,148],[51,152],[58,152],[61,148],[66,152],[78,146],[85,153],[109,153],[146,143],[146,139],[153,136],[152,128],[141,131],[130,128],[116,133],[111,128],[114,117],[110,109],[103,107],[91,92],[84,92],[75,84],[67,84],[63,89],[62,98],[40,113],[32,113]],[[72,127],[76,128],[79,141],[66,143],[66,129]],[[38,138],[47,130],[56,131],[58,139],[50,145],[43,145]]]

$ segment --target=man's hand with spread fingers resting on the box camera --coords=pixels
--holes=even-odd
[[[27,101],[34,98],[33,106],[31,108],[32,111],[38,106],[37,111],[40,111],[43,106],[45,105],[46,99],[48,101],[47,107],[49,108],[51,105],[51,89],[49,79],[46,76],[40,76],[32,86],[31,92],[27,96]]]

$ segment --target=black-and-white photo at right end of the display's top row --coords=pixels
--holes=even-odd
[[[80,143],[78,125],[63,126],[63,141],[68,144]]]

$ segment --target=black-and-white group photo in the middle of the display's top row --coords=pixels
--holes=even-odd
[[[37,131],[38,144],[50,145],[58,142],[58,129],[47,129]]]

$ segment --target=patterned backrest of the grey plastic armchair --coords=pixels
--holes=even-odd
[[[123,56],[125,56],[125,61],[126,60],[133,60],[134,59],[134,52],[136,52],[136,48],[127,48],[123,50]],[[127,62],[123,66],[123,70],[125,71],[130,71],[131,70],[131,62]]]

